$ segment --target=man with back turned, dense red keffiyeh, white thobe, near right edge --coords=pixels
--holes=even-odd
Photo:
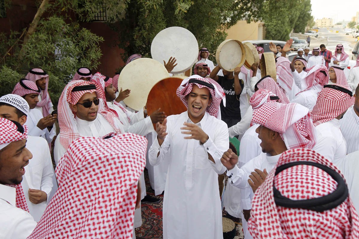
[[[341,166],[346,155],[346,145],[339,120],[353,104],[354,97],[350,90],[340,85],[325,85],[318,94],[317,103],[311,111],[316,130],[323,136],[321,141],[326,142],[325,154],[318,153],[329,160],[332,159],[332,162],[338,167]]]

